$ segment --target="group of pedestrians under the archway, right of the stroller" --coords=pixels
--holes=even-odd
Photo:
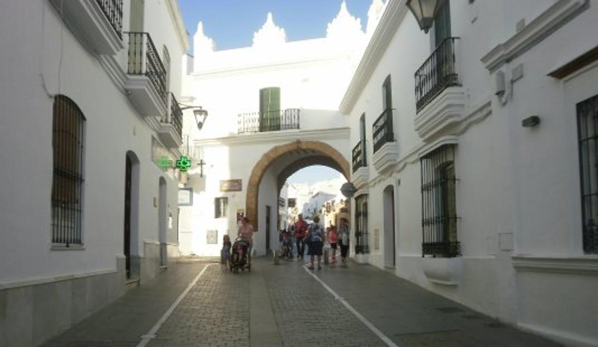
[[[288,230],[281,230],[280,240],[282,242],[282,255],[286,258],[293,257],[293,244],[297,245],[297,257],[303,259],[305,246],[307,245],[307,255],[310,256],[309,269],[314,269],[314,260],[318,260],[318,269],[321,269],[322,248],[324,242],[328,240],[332,249],[332,263],[336,263],[336,250],[340,246],[340,253],[343,263],[346,263],[347,251],[349,250],[349,226],[347,220],[342,218],[340,226],[327,227],[324,232],[320,225],[318,216],[313,218],[313,223],[307,224],[303,215],[299,214],[297,222],[289,226]],[[293,242],[295,241],[295,242]]]

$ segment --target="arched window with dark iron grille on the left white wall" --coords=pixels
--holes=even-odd
[[[74,101],[54,97],[52,243],[81,245],[85,117]]]

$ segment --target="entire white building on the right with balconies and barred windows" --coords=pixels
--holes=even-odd
[[[341,102],[352,256],[598,345],[598,1],[442,2],[426,34],[389,0]]]

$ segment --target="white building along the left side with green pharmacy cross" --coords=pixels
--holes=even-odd
[[[178,252],[178,4],[0,4],[0,344],[36,346]]]

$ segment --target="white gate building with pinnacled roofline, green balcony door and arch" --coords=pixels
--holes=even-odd
[[[205,164],[188,175],[193,206],[181,208],[181,240],[190,245],[184,252],[218,255],[222,236],[236,235],[243,216],[257,231],[258,254],[276,249],[278,197],[288,176],[326,165],[349,179],[349,124],[338,104],[366,40],[344,3],[320,39],[287,42],[268,14],[251,47],[216,51],[199,24],[184,95],[209,116],[201,131],[185,116],[193,161]]]

